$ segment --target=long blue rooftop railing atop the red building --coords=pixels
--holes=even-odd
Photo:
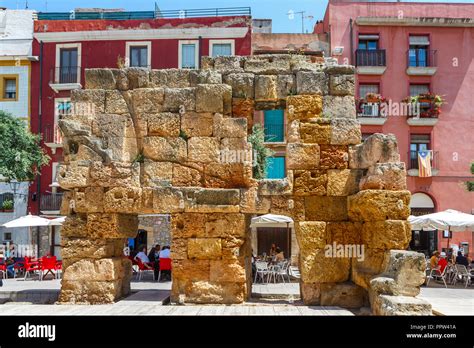
[[[250,7],[227,7],[207,9],[182,9],[161,11],[97,11],[97,12],[39,12],[39,20],[131,20],[131,19],[156,19],[156,18],[196,18],[196,17],[224,17],[224,16],[250,16]]]

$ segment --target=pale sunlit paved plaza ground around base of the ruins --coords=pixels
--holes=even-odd
[[[253,284],[252,299],[242,305],[167,306],[171,282],[132,281],[132,295],[113,305],[54,305],[60,280],[7,279],[0,288],[0,315],[354,315],[340,307],[304,306],[298,283]],[[474,315],[474,287],[446,289],[435,282],[418,296],[435,315]]]

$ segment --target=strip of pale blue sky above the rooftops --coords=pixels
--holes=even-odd
[[[27,0],[0,0],[0,6],[25,8]],[[454,2],[450,0],[418,0],[419,2]],[[310,29],[314,22],[322,19],[327,0],[156,0],[162,10],[191,8],[240,7],[252,8],[253,18],[273,19],[273,32],[301,32],[301,15],[289,19],[288,12],[306,11],[305,28]],[[474,0],[456,0],[474,3]],[[152,11],[155,0],[28,0],[30,9],[48,12],[69,12],[76,7],[124,8],[129,11]]]

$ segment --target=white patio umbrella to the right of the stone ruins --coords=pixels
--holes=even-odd
[[[453,209],[421,216],[410,216],[408,221],[413,230],[448,230],[450,232],[474,231],[474,215]]]

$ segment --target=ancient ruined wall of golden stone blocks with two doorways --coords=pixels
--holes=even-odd
[[[60,302],[128,294],[125,238],[138,214],[169,213],[172,301],[241,303],[250,218],[275,213],[295,221],[305,303],[429,311],[413,303],[423,256],[390,252],[411,235],[405,167],[393,136],[361,144],[353,67],[301,55],[204,57],[202,70],[86,70],[85,87],[72,101],[93,103],[95,114],[60,121],[59,182],[69,190]],[[255,111],[274,108],[286,110],[287,178],[255,180],[251,162],[221,153],[251,149]],[[365,260],[325,257],[334,242],[363,244]]]

